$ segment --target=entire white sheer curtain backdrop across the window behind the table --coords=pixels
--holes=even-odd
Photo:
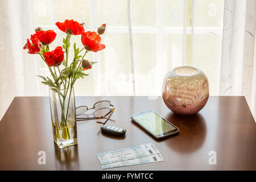
[[[61,46],[55,22],[64,19],[86,31],[107,24],[106,49],[86,55],[98,63],[76,96],[160,96],[170,69],[192,65],[208,76],[210,95],[244,95],[255,117],[255,9],[253,0],[0,0],[0,118],[15,96],[48,95],[36,77],[49,74],[45,65],[22,47],[38,26],[57,32],[50,49]],[[80,36],[73,42],[82,47]]]

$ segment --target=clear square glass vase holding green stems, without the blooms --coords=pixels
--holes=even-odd
[[[49,88],[53,140],[59,148],[77,144],[74,89]]]

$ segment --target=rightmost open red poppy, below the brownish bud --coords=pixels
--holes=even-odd
[[[106,48],[104,44],[100,44],[101,37],[96,32],[82,32],[81,35],[82,44],[87,51],[98,52]]]

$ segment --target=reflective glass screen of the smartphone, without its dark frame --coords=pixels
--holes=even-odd
[[[146,127],[151,131],[151,133],[154,133],[155,135],[160,135],[166,133],[167,131],[176,129],[152,110],[134,114],[133,119],[141,123],[141,125]]]

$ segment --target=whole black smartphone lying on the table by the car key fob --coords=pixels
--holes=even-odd
[[[141,113],[131,115],[131,119],[138,123],[144,130],[153,135],[156,139],[161,139],[179,133],[179,129],[160,117],[153,110],[145,110]]]

